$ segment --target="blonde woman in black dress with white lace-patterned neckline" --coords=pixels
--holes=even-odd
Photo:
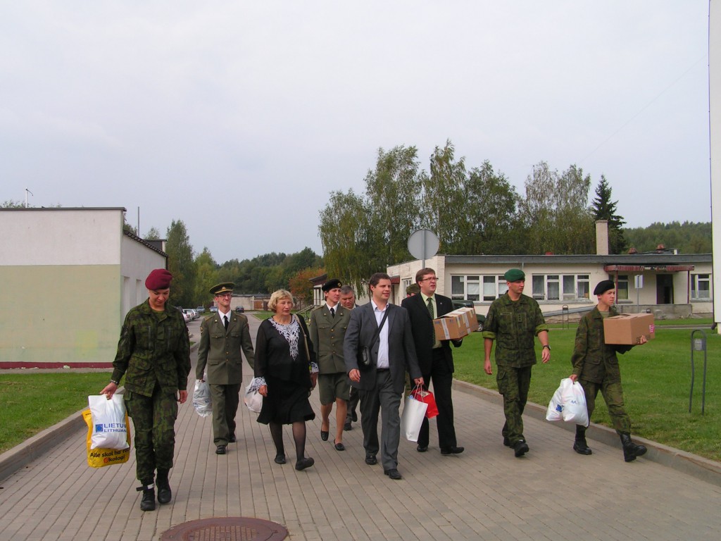
[[[276,464],[286,463],[283,425],[293,425],[296,470],[305,470],[314,464],[305,457],[306,421],[315,418],[308,396],[315,387],[318,366],[306,323],[291,314],[292,307],[293,296],[288,291],[275,291],[268,302],[268,309],[275,314],[258,327],[255,384],[263,397],[258,422],[270,426]]]

